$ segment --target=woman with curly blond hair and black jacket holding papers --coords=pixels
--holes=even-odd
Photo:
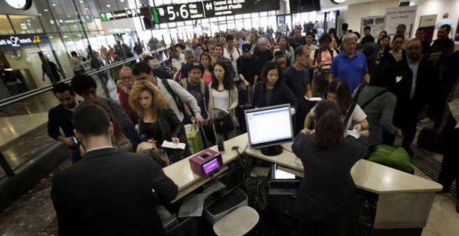
[[[154,143],[157,147],[161,146],[163,141],[186,144],[185,150],[166,149],[170,163],[191,154],[184,125],[169,108],[168,102],[158,88],[150,81],[138,81],[134,84],[129,94],[129,105],[140,117],[137,123],[140,129],[140,140]]]

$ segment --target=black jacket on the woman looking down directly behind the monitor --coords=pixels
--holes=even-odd
[[[259,81],[255,86],[254,108],[264,108],[285,103],[290,103],[290,106],[298,111],[298,99],[287,85],[275,83],[273,94],[271,94],[271,100],[269,101],[266,101],[266,83]]]

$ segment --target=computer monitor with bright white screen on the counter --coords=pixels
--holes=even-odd
[[[290,104],[245,110],[245,121],[250,148],[264,155],[279,155],[279,144],[293,141]]]

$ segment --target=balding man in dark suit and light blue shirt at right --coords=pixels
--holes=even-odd
[[[395,64],[397,79],[394,94],[397,105],[394,124],[403,133],[402,147],[412,156],[410,144],[416,134],[417,119],[424,103],[435,94],[438,86],[432,62],[421,58],[422,42],[414,38],[408,43],[407,58]]]

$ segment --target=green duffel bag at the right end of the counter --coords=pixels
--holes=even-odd
[[[398,169],[399,171],[414,174],[414,169],[410,162],[410,155],[401,147],[394,148],[393,146],[379,144],[373,149],[368,160],[380,165],[385,165],[386,167]]]

